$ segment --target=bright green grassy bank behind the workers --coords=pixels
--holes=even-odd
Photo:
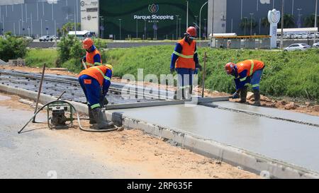
[[[133,74],[144,69],[144,75],[169,74],[173,46],[135,47],[129,49],[110,49],[102,52],[103,61],[114,66],[114,76]],[[55,61],[58,57],[54,49],[32,49],[28,51],[27,61],[37,52],[38,61]],[[200,48],[198,54],[203,66],[203,53],[207,52],[206,88],[227,93],[235,91],[233,77],[227,76],[224,65],[227,62],[240,62],[244,59],[260,59],[266,64],[261,82],[263,95],[293,98],[308,98],[319,101],[319,49],[306,52],[276,52],[269,50],[235,50]],[[77,55],[77,54],[74,54]],[[79,55],[78,55],[79,56]],[[51,58],[52,57],[52,58]],[[54,59],[55,58],[55,59]],[[79,57],[80,58],[80,57]],[[70,71],[79,72],[82,68],[79,58],[62,63]],[[28,65],[30,62],[27,62]],[[39,63],[40,64],[40,63]],[[50,63],[51,64],[51,63]],[[199,74],[201,83],[201,73]]]

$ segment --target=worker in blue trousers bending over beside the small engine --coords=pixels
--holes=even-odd
[[[93,66],[79,74],[79,83],[84,91],[89,106],[90,124],[97,124],[99,129],[113,127],[113,122],[108,122],[101,111],[106,93],[111,85],[113,67],[109,64]]]

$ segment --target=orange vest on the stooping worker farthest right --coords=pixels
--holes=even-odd
[[[264,68],[264,62],[259,60],[247,59],[236,64],[237,73],[247,70],[247,76],[252,76],[255,71]]]

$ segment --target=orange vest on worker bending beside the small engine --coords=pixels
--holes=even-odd
[[[92,78],[96,79],[101,86],[103,86],[104,79],[111,81],[111,77],[105,75],[108,69],[113,71],[113,67],[111,65],[93,66],[89,69],[81,71],[79,76],[84,74],[91,76]]]

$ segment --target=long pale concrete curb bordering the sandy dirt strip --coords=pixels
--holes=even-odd
[[[35,100],[37,93],[20,88],[0,85],[0,90],[5,93],[19,95],[24,98]],[[48,103],[56,98],[50,95],[41,95],[40,102]],[[87,106],[82,103],[71,102],[78,112],[87,113]],[[112,119],[116,124],[123,125],[128,129],[142,129],[147,134],[159,136],[187,148],[195,153],[214,158],[230,165],[239,166],[243,170],[254,172],[257,175],[270,178],[315,178],[319,179],[319,174],[296,165],[284,163],[279,160],[266,158],[255,153],[251,153],[240,148],[220,144],[216,141],[201,139],[199,136],[179,131],[178,129],[164,128],[156,124],[142,122],[138,119],[125,117],[120,112],[106,112],[106,117]]]

